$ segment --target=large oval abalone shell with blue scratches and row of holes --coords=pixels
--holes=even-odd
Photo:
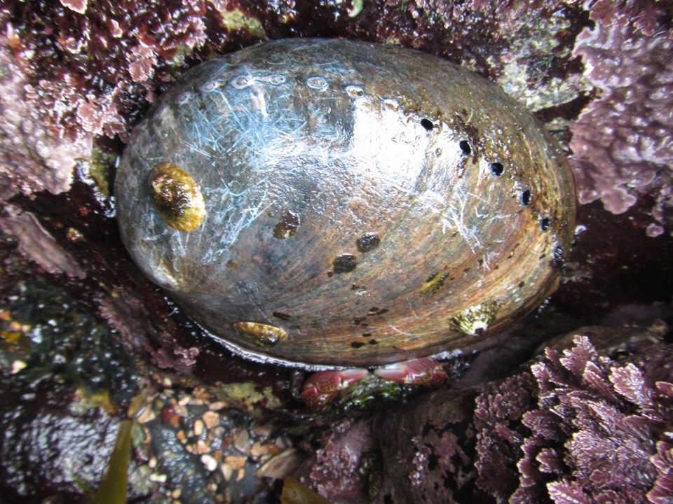
[[[115,193],[137,265],[213,337],[313,367],[511,325],[555,290],[575,212],[558,146],[498,87],[320,39],[186,73],[132,135]]]

